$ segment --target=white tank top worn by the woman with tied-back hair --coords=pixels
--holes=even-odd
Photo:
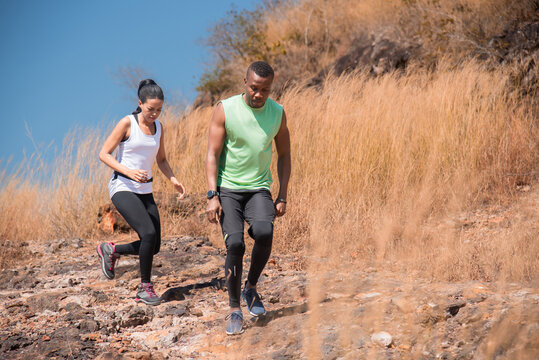
[[[139,124],[133,115],[129,138],[118,145],[116,160],[130,169],[142,169],[152,178],[152,165],[155,162],[161,140],[161,124],[155,121],[155,134],[146,135],[140,130]],[[137,194],[152,192],[152,183],[139,183],[124,176],[114,176],[109,181],[109,195],[112,198],[118,191],[131,191]]]

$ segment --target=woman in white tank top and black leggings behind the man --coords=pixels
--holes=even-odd
[[[109,181],[112,203],[140,240],[130,244],[102,243],[97,246],[101,269],[109,279],[114,278],[114,265],[120,255],[138,255],[141,283],[136,301],[157,305],[157,296],[151,282],[153,256],[161,246],[159,212],[152,195],[152,165],[157,165],[180,193],[185,188],[174,177],[165,155],[164,135],[157,118],[163,107],[163,91],[151,79],[140,82],[138,108],[132,115],[120,120],[99,152],[99,159],[114,170]],[[112,152],[118,147],[116,158]]]

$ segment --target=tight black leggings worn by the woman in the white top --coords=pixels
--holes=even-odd
[[[119,191],[112,196],[112,203],[140,238],[130,244],[116,245],[115,253],[138,255],[141,282],[151,282],[153,256],[161,247],[161,225],[153,195]]]

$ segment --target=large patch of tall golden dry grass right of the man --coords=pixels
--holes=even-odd
[[[488,239],[480,249],[463,246],[458,233],[431,226],[510,198],[515,178],[507,175],[537,169],[535,115],[504,91],[506,80],[469,63],[287,93],[296,190],[278,226],[282,248],[308,240],[328,256],[399,260],[448,279],[494,279],[505,267],[525,273],[516,269],[533,267],[534,255],[523,243],[511,251],[522,259],[515,262]]]

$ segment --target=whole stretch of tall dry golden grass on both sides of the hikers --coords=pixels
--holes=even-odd
[[[484,203],[507,202],[515,181],[533,179],[508,175],[537,171],[536,114],[505,90],[506,82],[503,69],[472,62],[378,79],[355,74],[328,79],[320,92],[285,93],[293,176],[277,251],[388,261],[450,280],[536,277],[539,249],[526,246],[536,244],[529,227],[513,229],[509,240],[474,240],[440,226]],[[168,159],[191,194],[206,188],[211,113],[180,117],[169,109],[161,119]],[[103,136],[86,130],[75,146],[78,134],[67,137],[74,140],[58,156],[50,184],[32,182],[31,172],[3,174],[2,213],[12,214],[1,225],[4,241],[98,235],[110,171],[97,160]],[[155,173],[155,191],[172,192]],[[200,219],[163,213],[164,233],[205,234],[220,243],[218,230]]]

